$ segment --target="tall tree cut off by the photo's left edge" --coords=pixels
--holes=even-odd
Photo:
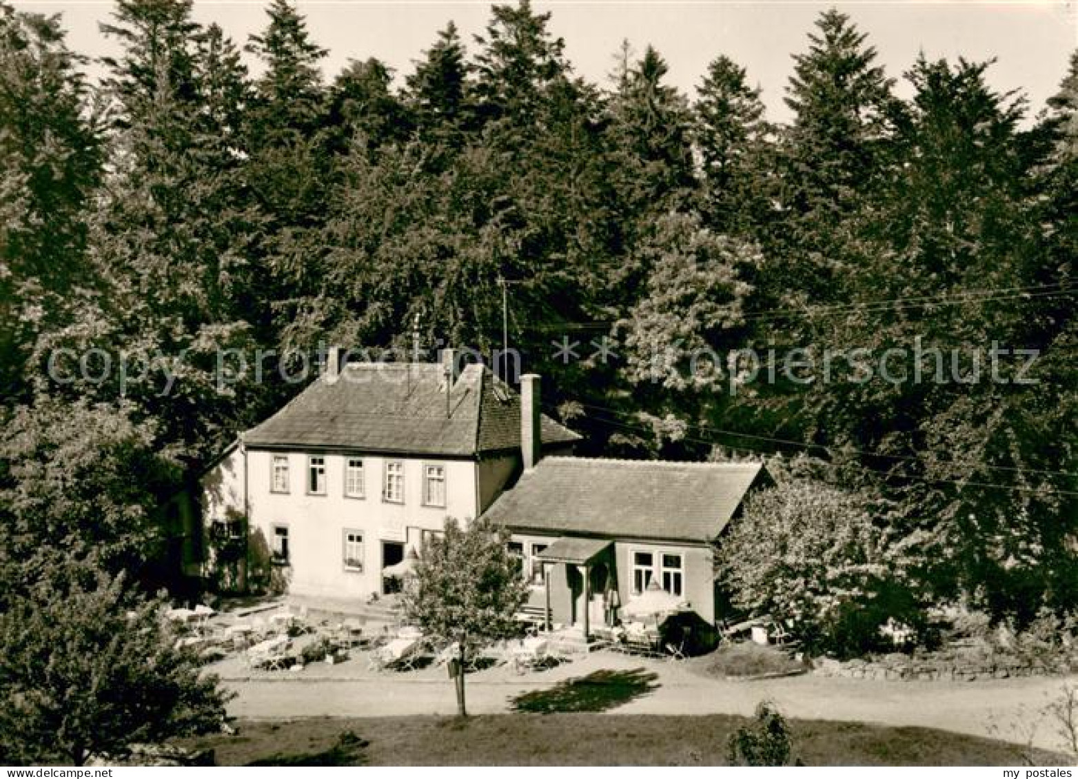
[[[85,214],[101,143],[83,60],[55,17],[0,2],[0,397],[25,400],[34,338],[93,284]]]

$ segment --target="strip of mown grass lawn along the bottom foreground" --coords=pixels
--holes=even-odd
[[[184,746],[212,748],[218,765],[715,765],[740,717],[513,713],[240,721],[236,736]],[[807,765],[1021,765],[1023,748],[920,727],[792,721]],[[1066,764],[1035,752],[1037,765]]]

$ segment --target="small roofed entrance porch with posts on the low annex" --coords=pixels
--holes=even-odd
[[[603,539],[561,538],[539,553],[545,582],[548,629],[551,613],[550,572],[548,566],[564,565],[568,592],[569,624],[583,629],[590,638],[593,625],[607,623],[607,593],[617,590],[613,558],[608,553],[612,542]]]

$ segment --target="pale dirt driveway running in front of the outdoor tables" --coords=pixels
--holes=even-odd
[[[887,725],[921,725],[1064,747],[1058,723],[1044,713],[1063,684],[1078,678],[1022,678],[978,682],[899,682],[833,679],[812,674],[765,681],[724,681],[697,676],[685,665],[607,652],[545,671],[516,676],[507,668],[469,674],[468,707],[473,713],[508,711],[510,699],[572,677],[600,669],[647,668],[659,687],[612,710],[626,714],[750,714],[763,699],[788,717],[849,720]],[[298,673],[251,676],[221,669],[238,693],[231,713],[245,718],[315,715],[371,717],[453,714],[453,685],[441,668],[409,673],[377,673],[358,662],[317,664]]]

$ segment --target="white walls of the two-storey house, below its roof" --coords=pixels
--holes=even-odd
[[[421,550],[448,517],[479,516],[519,458],[248,449],[229,453],[204,479],[209,521],[247,517],[295,595],[370,598],[393,582],[383,569]]]

